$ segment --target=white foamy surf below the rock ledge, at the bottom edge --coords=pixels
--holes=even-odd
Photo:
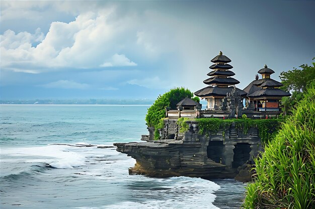
[[[215,199],[214,191],[220,188],[212,181],[191,177],[171,178],[147,178],[144,176],[133,176],[134,192],[139,198],[129,201],[121,201],[98,207],[76,207],[81,209],[97,208],[198,208],[203,202],[202,208],[219,209],[212,202]],[[152,184],[154,182],[154,184]],[[145,185],[153,185],[154,188],[146,188]],[[137,186],[143,186],[139,189]],[[159,189],[160,188],[160,189]],[[158,198],[158,199],[156,199]]]

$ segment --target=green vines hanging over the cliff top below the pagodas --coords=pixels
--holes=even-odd
[[[199,134],[215,134],[218,131],[227,131],[232,123],[235,128],[241,130],[244,134],[248,133],[250,128],[258,128],[259,136],[262,142],[268,142],[279,130],[282,119],[218,119],[218,118],[198,118]]]

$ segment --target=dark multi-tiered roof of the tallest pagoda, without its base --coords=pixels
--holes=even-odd
[[[210,73],[207,75],[210,78],[203,81],[203,83],[209,85],[199,91],[195,92],[196,96],[199,97],[209,97],[209,96],[226,96],[227,93],[231,92],[234,88],[235,84],[239,84],[240,82],[231,76],[234,76],[235,73],[230,71],[233,67],[227,63],[231,62],[231,60],[222,54],[219,53],[218,56],[211,60],[214,64],[209,68],[212,69]],[[245,96],[247,92],[244,92],[240,89],[237,89],[237,92],[241,94],[241,96]]]

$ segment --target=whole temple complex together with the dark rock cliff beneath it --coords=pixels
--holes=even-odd
[[[230,71],[233,67],[228,64],[229,58],[220,52],[211,62],[214,64],[209,67],[209,78],[203,81],[207,86],[194,93],[207,101],[205,109],[200,103],[184,98],[176,109],[166,108],[162,128],[147,128],[149,135],[141,137],[145,142],[114,144],[117,151],[136,159],[135,166],[129,168],[130,174],[251,180],[254,159],[263,150],[262,140],[269,140],[269,134],[279,128],[279,120],[260,120],[266,127],[259,128],[257,120],[195,118],[278,117],[279,100],[290,93],[279,89],[282,84],[270,78],[274,71],[267,66],[258,71],[261,79],[256,75],[256,79],[241,90],[235,87],[240,82],[232,78],[235,74]],[[267,132],[268,137],[262,138]]]

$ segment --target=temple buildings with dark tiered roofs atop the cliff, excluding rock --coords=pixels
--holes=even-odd
[[[279,101],[291,94],[279,89],[283,85],[270,78],[274,71],[267,65],[258,71],[261,79],[256,75],[256,79],[241,90],[235,87],[240,82],[232,78],[235,73],[230,70],[233,67],[228,64],[231,62],[228,57],[220,52],[211,62],[214,63],[209,67],[212,71],[207,74],[210,78],[203,81],[208,86],[194,93],[207,101],[206,108],[201,110],[200,104],[185,98],[178,103],[177,110],[167,109],[168,118],[234,118],[243,114],[251,118],[262,118],[281,113]]]

